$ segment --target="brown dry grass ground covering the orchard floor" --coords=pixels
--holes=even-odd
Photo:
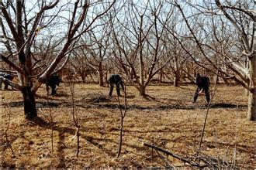
[[[81,124],[81,148],[75,157],[76,138],[71,117],[71,94],[62,83],[56,97],[47,103],[45,88],[37,93],[40,123],[24,120],[22,95],[19,91],[2,90],[2,134],[7,128],[12,155],[5,136],[1,136],[3,167],[108,168],[165,167],[154,151],[142,142],[187,157],[199,145],[206,114],[203,97],[192,104],[195,87],[150,86],[149,97],[138,96],[134,87],[127,87],[128,110],[124,122],[123,149],[116,158],[119,143],[119,109],[114,98],[106,100],[108,89],[92,84],[75,85],[75,106]],[[116,92],[114,91],[116,94]],[[102,97],[97,98],[97,97]],[[123,97],[121,98],[123,101]],[[238,109],[237,109],[238,106]],[[49,109],[50,108],[50,109]],[[247,97],[242,87],[217,87],[213,108],[209,110],[202,152],[215,158],[234,160],[241,167],[254,168],[254,122],[245,121]],[[54,116],[54,152],[50,152],[50,112]],[[236,148],[236,150],[234,150]],[[183,165],[168,157],[171,165]]]

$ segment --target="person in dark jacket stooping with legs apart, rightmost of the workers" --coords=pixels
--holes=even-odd
[[[193,103],[195,103],[197,97],[199,96],[199,93],[206,93],[206,100],[207,103],[209,103],[209,77],[208,76],[200,76],[199,73],[196,75],[195,83],[197,85],[197,88],[195,90],[194,100]]]

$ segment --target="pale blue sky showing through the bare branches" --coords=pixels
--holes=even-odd
[[[4,3],[7,2],[7,1],[8,0],[3,0]],[[98,1],[98,0],[92,0],[91,2],[96,2],[96,1]],[[225,2],[231,2],[231,3],[235,3],[237,1],[238,0],[225,0]],[[239,0],[239,1],[240,2],[243,2],[243,1],[246,2],[248,0]],[[44,0],[44,2],[49,3],[49,2],[53,2],[53,1]],[[69,5],[63,6],[67,2],[69,3]],[[103,2],[106,2],[106,1],[103,0]],[[111,0],[110,0],[110,2],[111,2]],[[117,3],[118,3],[119,6],[122,5],[123,2],[126,2],[126,1],[125,0],[117,0]],[[143,6],[147,3],[147,0],[142,0],[142,1],[141,0],[133,0],[133,1],[130,0],[129,2],[133,2],[137,5],[140,5],[140,7],[143,8]],[[152,1],[151,0],[150,2],[167,2],[166,4],[170,5],[169,2],[174,2],[174,0],[157,0],[157,1]],[[186,10],[186,9],[188,9],[188,3],[189,4],[195,4],[195,5],[196,4],[197,5],[202,5],[203,2],[205,2],[206,4],[211,4],[211,3],[214,3],[214,0],[177,0],[176,2],[178,2],[179,5],[182,5],[182,7],[184,8],[184,11],[185,11],[185,15],[189,16],[189,15],[192,15],[192,11]],[[220,1],[220,2],[223,2],[223,0]],[[26,5],[28,18],[31,18],[32,16],[36,15],[36,12],[38,12],[39,8],[40,8],[37,5],[37,1],[35,1],[35,0],[26,0],[25,5]],[[57,5],[57,8],[61,8],[63,11],[59,13],[59,17],[54,19],[54,22],[53,22],[54,26],[50,27],[50,29],[47,29],[47,28],[43,29],[42,31],[40,31],[38,33],[38,36],[36,38],[38,40],[40,40],[40,39],[45,38],[44,37],[45,35],[49,35],[49,36],[52,35],[56,39],[63,37],[64,33],[67,32],[67,28],[68,28],[66,19],[71,18],[71,12],[69,12],[69,11],[72,10],[73,6],[74,6],[74,1],[61,0],[61,2]],[[92,10],[93,9],[95,10],[96,8],[92,8]],[[98,9],[101,9],[101,7],[98,8]],[[165,10],[168,11],[168,8],[166,7]],[[53,9],[53,10],[47,11],[45,13],[45,15],[54,15],[54,14],[56,14],[56,12],[57,12],[57,10]],[[79,10],[78,10],[78,12],[79,12]],[[126,11],[120,12],[119,15],[118,15],[119,19],[122,19],[124,17],[124,15],[126,15]],[[15,15],[14,15],[13,12],[11,12],[11,16],[12,16],[12,19],[14,20]],[[2,17],[1,17],[1,19],[2,19]],[[39,24],[39,26],[40,25],[43,26],[44,23],[45,23],[45,21],[41,22]],[[4,26],[7,26],[6,23],[5,23]],[[2,29],[0,29],[0,38],[1,38],[1,36],[2,36]],[[2,51],[3,49],[4,49],[4,45],[2,44],[2,42],[0,42],[0,50]]]

